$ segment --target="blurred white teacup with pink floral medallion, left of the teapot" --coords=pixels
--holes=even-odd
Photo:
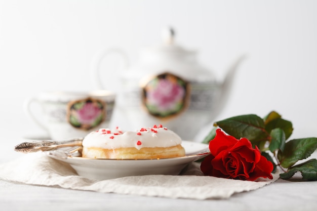
[[[107,128],[112,116],[115,94],[106,90],[92,92],[43,92],[24,103],[24,111],[53,140],[85,137],[98,128]],[[32,109],[39,104],[42,111]]]

